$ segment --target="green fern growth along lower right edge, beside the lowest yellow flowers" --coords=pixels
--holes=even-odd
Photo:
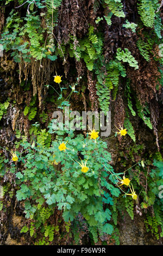
[[[133,155],[141,155],[142,149],[144,145],[135,144],[133,148],[129,148],[129,157],[133,159]],[[126,166],[125,157],[123,160],[123,153],[121,154],[121,162],[123,166]],[[154,160],[153,160],[154,159]],[[124,163],[123,163],[124,162]],[[149,170],[149,165],[153,166],[152,170]],[[133,184],[137,191],[140,191],[141,195],[141,203],[136,206],[137,214],[143,214],[144,223],[146,226],[147,232],[151,231],[151,233],[156,237],[156,239],[160,239],[163,236],[162,230],[162,204],[163,204],[163,161],[162,156],[158,152],[156,154],[151,154],[148,156],[147,161],[141,160],[139,164],[136,165],[136,172],[129,168],[128,173],[131,178],[134,179]],[[141,174],[145,175],[143,186]],[[124,202],[125,201],[125,202]],[[134,217],[134,205],[131,198],[125,198],[123,201],[122,198],[114,198],[114,205],[112,205],[112,218],[114,223],[117,223],[118,213],[120,216],[126,215],[125,209],[128,212],[131,219]],[[130,206],[129,206],[130,205]],[[129,207],[128,207],[129,206]],[[151,214],[151,209],[153,214]]]

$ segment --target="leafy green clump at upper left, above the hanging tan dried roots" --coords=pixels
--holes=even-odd
[[[20,18],[18,13],[12,10],[0,42],[5,51],[12,50],[11,56],[15,62],[20,62],[22,58],[25,62],[30,62],[32,57],[36,60],[46,57],[55,60],[55,46],[45,46],[44,33],[45,29],[41,27],[40,16],[36,15],[36,12]]]

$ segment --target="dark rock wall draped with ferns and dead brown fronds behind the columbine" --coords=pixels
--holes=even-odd
[[[9,21],[7,28],[11,25],[10,23],[12,23],[10,12],[13,11],[13,15],[18,14],[21,19],[24,19],[28,5],[24,3],[20,8],[17,8],[17,1],[6,1],[5,4],[5,1],[1,2],[3,2],[2,4],[0,3],[0,5],[2,5],[0,6],[0,34],[2,36],[3,28],[7,20]],[[163,90],[161,84],[158,82],[161,75],[159,69],[161,69],[160,66],[162,65],[158,56],[160,41],[159,43],[157,42],[159,37],[156,40],[152,38],[156,36],[154,34],[154,26],[145,27],[143,23],[141,23],[141,16],[139,15],[137,6],[143,1],[122,1],[121,4],[123,5],[122,9],[125,13],[125,17],[112,15],[109,21],[110,25],[108,25],[105,19],[108,14],[111,14],[110,9],[106,7],[106,3],[103,5],[103,2],[115,2],[115,4],[117,4],[117,10],[120,8],[119,5],[121,1],[62,0],[62,4],[57,9],[59,17],[57,21],[58,25],[56,23],[56,26],[53,27],[54,31],[53,28],[51,29],[51,31],[54,32],[52,34],[54,34],[55,38],[53,38],[53,36],[52,38],[48,38],[51,32],[47,30],[47,10],[37,9],[35,11],[36,6],[31,4],[30,7],[34,8],[34,13],[30,10],[31,15],[33,15],[35,19],[39,17],[40,28],[43,32],[37,33],[37,30],[34,32],[32,30],[34,26],[31,26],[31,33],[29,29],[29,35],[26,35],[27,27],[29,28],[29,26],[27,26],[27,23],[23,23],[23,25],[21,25],[24,26],[24,31],[21,32],[22,34],[24,33],[22,37],[18,34],[17,36],[16,34],[12,34],[11,37],[8,35],[9,39],[15,38],[17,44],[20,45],[16,45],[15,39],[13,39],[14,45],[11,45],[11,48],[6,47],[8,51],[4,51],[4,57],[0,57],[0,186],[4,185],[6,187],[6,193],[2,199],[3,206],[0,211],[1,245],[33,245],[35,242],[35,237],[30,237],[29,232],[28,234],[21,233],[22,227],[26,224],[30,225],[31,220],[27,220],[24,217],[23,200],[22,202],[18,202],[16,199],[16,190],[18,190],[19,185],[17,186],[16,184],[15,173],[10,171],[12,161],[9,151],[15,149],[16,146],[18,150],[21,150],[18,148],[18,143],[22,138],[28,142],[31,142],[30,140],[33,140],[34,137],[39,137],[41,140],[43,137],[42,134],[45,134],[43,132],[45,130],[47,131],[48,123],[52,119],[53,112],[59,109],[58,95],[55,94],[56,90],[54,92],[52,88],[48,88],[49,86],[45,87],[45,85],[54,84],[53,76],[55,72],[61,75],[67,92],[68,90],[71,91],[70,84],[74,84],[77,78],[81,77],[77,88],[79,93],[72,94],[70,100],[72,110],[81,112],[84,110],[95,111],[96,109],[102,109],[103,104],[106,105],[107,111],[111,111],[111,131],[114,132],[116,131],[115,126],[124,126],[127,118],[126,124],[129,127],[129,129],[127,129],[130,130],[130,135],[128,132],[128,137],[114,137],[115,133],[113,134],[112,132],[110,136],[114,138],[108,139],[108,151],[112,159],[110,164],[115,172],[120,173],[124,172],[124,169],[130,168],[130,166],[134,166],[135,163],[141,160],[147,162],[146,170],[143,168],[137,168],[137,170],[133,168],[127,175],[130,175],[130,179],[136,180],[135,182],[138,184],[137,187],[140,188],[141,186],[144,192],[147,192],[145,195],[146,198],[150,199],[148,192],[151,188],[149,187],[149,182],[147,182],[147,176],[149,178],[149,173],[153,168],[153,157],[158,154],[158,150],[161,149],[161,141],[163,139]],[[32,7],[32,5],[34,5],[34,7]],[[154,10],[154,14],[155,13],[156,10]],[[20,19],[19,16],[16,18],[16,21]],[[162,19],[162,14],[160,18]],[[28,21],[27,17],[26,20]],[[131,28],[124,28],[124,22],[127,20],[129,23],[135,22],[136,24],[137,21],[140,21],[136,32],[133,32]],[[14,21],[15,23],[13,22],[15,25],[11,26],[9,29],[11,33],[18,28],[22,29],[20,26],[21,23],[16,23],[16,21]],[[24,22],[24,20],[22,21]],[[144,32],[145,34],[143,34]],[[16,51],[18,54],[21,51],[22,53],[30,53],[28,49],[32,43],[30,39],[32,38],[32,41],[35,41],[33,33],[35,36],[37,35],[38,38],[41,38],[39,42],[40,48],[36,48],[36,50],[38,50],[38,52],[41,51],[42,56],[46,48],[47,55],[43,58],[41,57],[42,59],[36,59],[33,54],[29,62],[26,62],[22,55],[20,55],[20,62],[16,62],[13,59],[13,53],[16,54]],[[148,33],[149,38],[147,37]],[[101,40],[99,40],[97,44],[96,41],[98,41],[99,38],[101,38]],[[82,40],[81,45],[80,40]],[[137,47],[139,40],[140,46],[142,45],[142,52],[141,47]],[[147,41],[151,41],[149,45]],[[27,48],[23,49],[25,45]],[[56,50],[56,56],[49,55],[52,54],[52,45]],[[143,47],[146,47],[146,45],[147,56],[145,58],[143,54],[145,54],[144,52],[146,51],[144,51]],[[150,51],[149,46],[152,49]],[[12,52],[15,47],[17,47],[17,50]],[[65,54],[64,58],[61,48],[63,48]],[[117,61],[118,49],[124,50],[125,48],[131,52],[131,56],[133,56],[139,64],[139,69],[134,69],[134,66],[129,65],[130,59],[128,63],[125,58],[120,58],[120,62]],[[35,47],[33,47],[33,50],[35,50]],[[96,52],[96,50],[98,51]],[[101,53],[99,54],[98,52]],[[80,58],[78,54],[82,54],[81,56],[85,57]],[[120,55],[122,57],[122,51],[121,54],[119,51],[119,57]],[[148,55],[149,60],[147,60]],[[57,58],[56,62],[54,60],[55,58]],[[54,87],[57,89],[58,84],[56,83]],[[104,97],[102,97],[103,95]],[[105,104],[106,102],[109,102],[107,103],[108,105]],[[140,105],[138,104],[139,102]],[[147,108],[146,103],[148,104]],[[35,127],[37,127],[37,125],[38,127],[40,126],[38,130],[36,129],[37,132],[35,135],[34,130],[31,129],[34,125]],[[52,135],[52,141],[53,139],[55,139],[55,136],[53,137]],[[4,156],[5,161],[9,160],[5,163],[7,172],[4,176],[1,176],[2,156]],[[159,157],[160,156],[158,156],[158,158]],[[17,172],[21,172],[21,168],[23,167],[18,163]],[[147,170],[149,170],[149,173],[147,173]],[[137,192],[139,193],[140,191]],[[140,204],[144,202],[148,203],[148,200],[145,200],[145,196],[141,197]],[[156,196],[154,195],[154,197]],[[33,200],[33,198],[30,198],[30,200]],[[149,203],[147,208],[148,206],[150,208],[151,204]],[[148,210],[150,211],[149,208]],[[56,210],[52,218],[55,219],[57,216],[56,219],[58,219],[58,212],[59,211]],[[150,213],[153,214],[152,211]],[[119,218],[118,230],[120,231],[119,239],[121,245],[162,244],[161,240],[157,240],[151,232],[147,232],[144,224],[145,217],[146,216],[143,214],[142,216],[135,215],[134,220],[131,220],[130,216],[126,214],[124,217]],[[50,219],[48,221],[49,223],[54,223],[54,220]],[[85,231],[83,231],[83,233],[84,232]],[[87,231],[87,233],[89,233],[89,231]],[[81,243],[83,242],[83,245],[87,245],[88,242],[91,243],[91,238],[87,233],[84,233],[84,239],[80,240]],[[67,237],[62,237],[61,241],[59,237],[58,241],[61,244],[73,244],[71,236],[70,238]],[[55,244],[56,241],[57,239],[55,238],[53,244]],[[102,241],[99,241],[99,244],[101,243]]]

